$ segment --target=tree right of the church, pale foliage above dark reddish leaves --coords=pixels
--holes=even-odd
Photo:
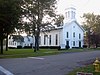
[[[100,44],[100,15],[95,14],[84,14],[83,18],[85,22],[83,22],[83,27],[86,30],[86,38],[88,45],[95,45],[95,47]]]

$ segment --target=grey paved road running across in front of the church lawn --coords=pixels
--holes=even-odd
[[[64,53],[38,58],[0,59],[0,66],[14,75],[65,75],[96,57],[100,57],[100,51]]]

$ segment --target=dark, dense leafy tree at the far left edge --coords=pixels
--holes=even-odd
[[[21,18],[21,0],[0,0],[0,40],[3,54],[3,40],[15,30]]]

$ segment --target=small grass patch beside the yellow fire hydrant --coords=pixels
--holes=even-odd
[[[100,72],[95,72],[94,71],[94,66],[92,64],[88,65],[88,66],[85,66],[85,67],[75,69],[67,75],[76,75],[77,72],[93,73],[93,75],[100,75]]]

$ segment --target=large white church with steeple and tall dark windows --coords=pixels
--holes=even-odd
[[[63,26],[57,27],[46,34],[40,33],[40,47],[83,47],[84,29],[77,22],[75,15],[75,8],[67,8]]]

